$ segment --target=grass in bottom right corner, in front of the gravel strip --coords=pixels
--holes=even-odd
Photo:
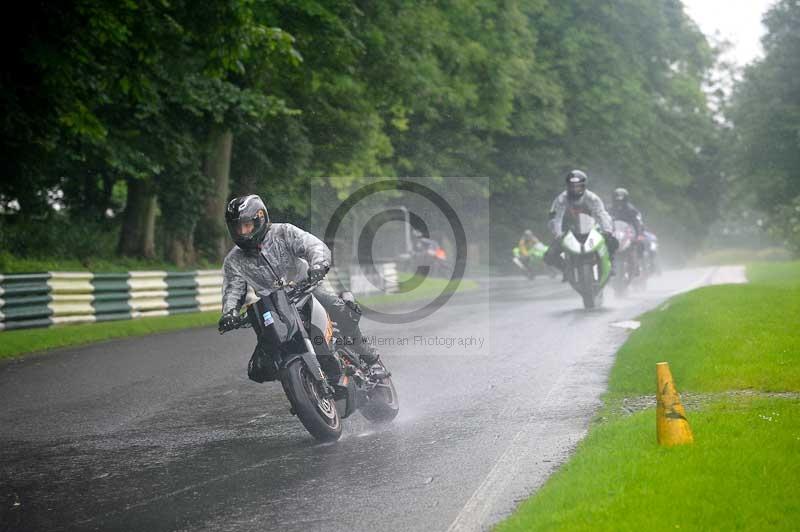
[[[797,530],[798,413],[798,399],[717,402],[671,449],[655,409],[614,417],[497,530]]]

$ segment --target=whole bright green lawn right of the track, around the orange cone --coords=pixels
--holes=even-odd
[[[498,530],[797,529],[800,262],[755,264],[748,278],[642,316],[589,435]],[[694,445],[659,447],[655,409],[621,408],[652,397],[661,361],[680,392],[708,394],[687,412]]]

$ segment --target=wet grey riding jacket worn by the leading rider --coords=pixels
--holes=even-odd
[[[259,297],[273,291],[278,279],[295,279],[305,267],[330,265],[322,240],[292,224],[272,224],[258,250],[230,250],[222,265],[222,312],[238,310],[247,287]]]

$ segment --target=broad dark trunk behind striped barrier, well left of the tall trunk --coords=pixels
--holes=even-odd
[[[150,180],[128,179],[128,197],[117,247],[121,255],[156,256],[156,193]]]

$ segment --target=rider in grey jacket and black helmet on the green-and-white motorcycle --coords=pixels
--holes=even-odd
[[[554,238],[544,255],[544,261],[561,270],[564,273],[563,280],[566,280],[566,272],[564,259],[561,257],[561,241],[569,225],[569,217],[575,217],[581,213],[593,217],[600,225],[600,232],[605,238],[609,259],[611,259],[611,272],[612,275],[614,274],[614,252],[619,246],[619,242],[613,235],[614,224],[600,196],[586,188],[587,181],[588,177],[581,170],[570,171],[564,178],[566,190],[556,196],[550,207],[549,224]]]

